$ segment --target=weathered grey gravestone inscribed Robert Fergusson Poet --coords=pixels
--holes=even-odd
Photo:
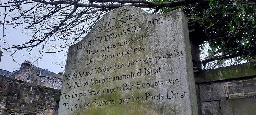
[[[107,13],[69,47],[59,115],[197,115],[181,9]]]

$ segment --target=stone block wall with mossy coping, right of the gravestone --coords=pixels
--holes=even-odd
[[[195,82],[202,115],[255,115],[255,63],[206,70]]]

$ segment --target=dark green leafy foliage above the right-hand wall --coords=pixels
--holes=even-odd
[[[176,0],[168,0],[168,2],[172,1]],[[152,0],[152,2],[167,1]],[[254,0],[210,0],[187,6],[162,8],[157,13],[178,8],[182,8],[188,22],[197,21],[201,25],[209,39],[207,43],[210,47],[208,50],[210,57],[227,53],[227,56],[240,56],[245,60],[256,58]]]

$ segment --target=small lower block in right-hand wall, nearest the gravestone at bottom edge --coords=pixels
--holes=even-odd
[[[202,115],[221,115],[219,101],[202,102]]]

